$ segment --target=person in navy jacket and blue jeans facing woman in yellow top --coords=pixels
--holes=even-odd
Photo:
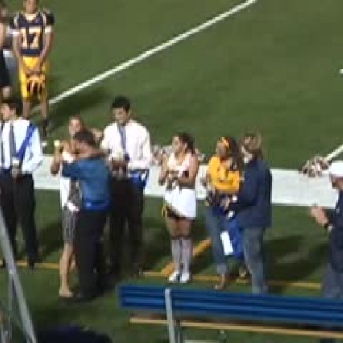
[[[263,158],[260,134],[246,134],[241,139],[244,159],[243,184],[237,202],[230,209],[237,213],[241,228],[244,261],[251,274],[252,293],[267,292],[263,239],[272,222],[272,174]]]

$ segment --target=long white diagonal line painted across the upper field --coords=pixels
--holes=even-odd
[[[84,89],[93,86],[93,84],[97,84],[99,82],[102,82],[106,78],[109,78],[110,76],[113,76],[117,73],[120,73],[121,71],[124,71],[136,64],[139,64],[140,62],[143,62],[147,58],[150,58],[151,56],[154,56],[161,51],[164,51],[166,49],[169,49],[169,47],[172,47],[183,40],[186,40],[188,38],[191,38],[192,36],[195,36],[196,34],[204,31],[205,29],[209,29],[209,27],[212,27],[213,25],[220,23],[220,21],[224,21],[224,19],[233,16],[242,10],[245,10],[246,8],[250,7],[254,3],[256,3],[257,0],[248,0],[244,3],[241,3],[239,5],[236,5],[235,7],[231,8],[230,10],[227,10],[226,12],[223,12],[221,14],[218,14],[217,16],[214,16],[212,19],[209,19],[208,21],[205,21],[204,23],[193,27],[192,29],[189,29],[185,31],[182,34],[179,34],[178,36],[175,36],[174,38],[171,38],[170,40],[167,40],[165,43],[162,43],[160,45],[157,45],[156,47],[152,47],[151,49],[148,49],[147,51],[144,51],[143,53],[139,54],[138,56],[131,58],[130,60],[127,60],[126,62],[123,62],[116,67],[113,67],[112,69],[109,69],[107,71],[104,71],[104,73],[101,73],[94,78],[91,78],[90,80],[87,80],[85,82],[82,82],[81,84],[78,84],[77,86],[73,86],[67,91],[64,91],[60,95],[57,95],[53,99],[49,101],[50,105],[57,104],[58,102],[61,102],[64,99],[67,99],[68,97],[71,97],[72,95],[83,91]],[[38,107],[34,108],[34,112],[38,110]]]

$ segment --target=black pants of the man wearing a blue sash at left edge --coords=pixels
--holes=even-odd
[[[38,257],[38,242],[34,211],[34,181],[31,175],[23,175],[16,180],[10,173],[0,174],[0,202],[3,217],[10,237],[14,257],[17,255],[16,227],[23,230],[27,260],[34,265]]]

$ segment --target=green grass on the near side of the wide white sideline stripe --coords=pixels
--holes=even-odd
[[[40,239],[40,252],[45,261],[56,262],[62,247],[59,223],[59,198],[56,192],[37,193],[37,217]],[[146,269],[160,270],[170,260],[169,241],[163,219],[159,216],[161,200],[148,199],[145,210],[145,246],[147,250]],[[44,217],[38,213],[45,213]],[[43,220],[44,218],[44,220]],[[197,241],[206,237],[202,206],[194,229]],[[320,282],[326,257],[326,237],[322,230],[312,224],[305,209],[294,207],[274,207],[274,224],[268,230],[266,250],[268,252],[268,279],[285,281]],[[230,260],[235,268],[235,261]],[[200,255],[194,263],[196,274],[214,275],[215,269],[211,250]],[[0,298],[5,296],[5,274],[0,274]],[[117,294],[113,292],[96,300],[91,305],[69,307],[58,302],[58,273],[51,270],[36,270],[32,273],[21,270],[23,287],[36,327],[54,327],[62,324],[82,324],[92,329],[104,331],[118,342],[144,342],[144,333],[152,335],[151,342],[166,342],[167,331],[163,328],[147,329],[145,326],[130,327],[128,314],[118,308]],[[123,282],[137,282],[124,279]],[[165,278],[146,278],[140,283],[164,285]],[[195,282],[189,287],[211,289],[211,282]],[[250,286],[231,285],[231,290],[250,292]],[[296,296],[318,296],[311,289],[296,289],[285,286],[270,287],[277,294]],[[216,339],[218,332],[201,333],[187,330],[190,338]],[[252,342],[271,342],[263,335],[230,333],[230,338],[252,340]],[[267,341],[265,341],[267,339]],[[273,342],[287,342],[287,338],[273,338]],[[296,340],[294,342],[312,342]]]

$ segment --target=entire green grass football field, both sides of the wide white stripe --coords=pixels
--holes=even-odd
[[[51,56],[51,96],[115,67],[240,3],[234,0],[42,0],[56,15],[56,45]],[[19,8],[20,2],[10,2]],[[137,119],[152,140],[167,143],[182,129],[194,134],[210,154],[217,137],[261,130],[272,167],[295,168],[311,154],[325,154],[342,143],[343,45],[341,0],[259,0],[250,8],[152,56],[126,71],[54,106],[54,137],[64,135],[68,117],[80,113],[92,126],[110,121],[109,104],[119,93],[132,98]],[[36,117],[35,119],[38,119]],[[52,137],[52,138],[54,138]],[[289,185],[292,187],[292,185]],[[168,237],[159,216],[160,200],[147,200],[146,267],[159,271],[169,262]],[[56,262],[61,248],[58,194],[37,193],[37,220],[43,259]],[[202,211],[196,240],[206,238]],[[320,282],[327,241],[307,210],[274,207],[268,231],[271,280]],[[193,265],[213,275],[206,250]],[[37,329],[78,323],[109,333],[115,342],[167,342],[165,329],[130,327],[118,309],[115,290],[91,305],[58,303],[56,270],[21,272]],[[0,274],[0,298],[5,296]],[[146,278],[143,283],[165,283]],[[196,287],[211,283],[195,282]],[[303,285],[304,286],[304,285]],[[318,296],[316,287],[273,284],[272,292]],[[248,286],[230,289],[249,292]],[[190,332],[193,338],[217,333]],[[230,333],[232,342],[314,342],[248,333]]]

